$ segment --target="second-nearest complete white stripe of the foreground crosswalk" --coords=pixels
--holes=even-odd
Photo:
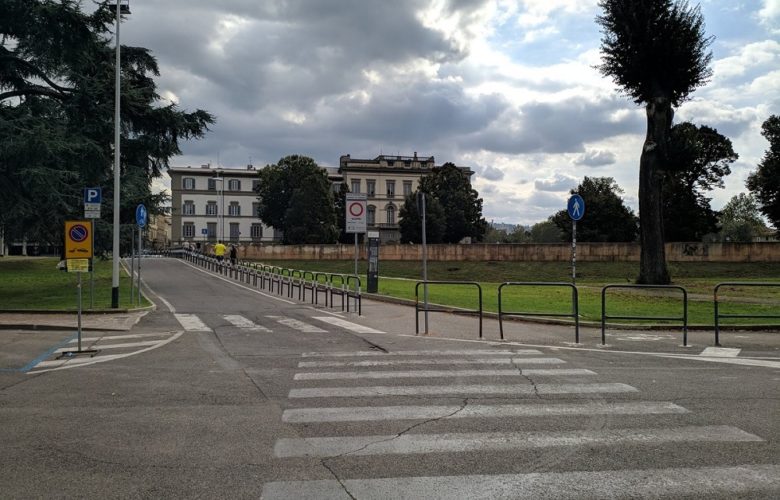
[[[598,429],[540,432],[469,432],[402,434],[386,436],[337,436],[282,438],[274,455],[287,457],[335,457],[463,453],[524,450],[553,446],[593,446],[707,442],[763,442],[758,436],[728,425],[686,426],[661,429]]]

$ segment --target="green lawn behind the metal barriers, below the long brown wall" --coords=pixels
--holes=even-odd
[[[266,264],[328,273],[354,272],[354,261],[268,261]],[[365,272],[366,262],[358,269]],[[670,263],[674,284],[688,292],[688,322],[713,325],[713,288],[726,281],[780,283],[780,263]],[[577,265],[579,314],[585,321],[601,320],[601,289],[607,284],[631,284],[639,272],[632,262],[582,262]],[[415,299],[415,283],[422,276],[419,262],[380,262],[379,293],[391,297]],[[365,287],[365,274],[361,275]],[[482,287],[485,311],[498,311],[498,286],[505,281],[570,282],[567,262],[430,262],[428,279],[476,281]],[[422,287],[419,289],[422,300]],[[478,294],[472,286],[429,286],[429,301],[435,304],[478,308]],[[568,287],[505,287],[504,312],[571,313],[571,289]],[[722,287],[719,291],[722,314],[780,315],[780,287]],[[637,291],[609,289],[606,294],[608,316],[652,316],[682,318],[682,292],[677,290]],[[614,322],[631,323],[629,320]],[[682,324],[681,321],[646,320],[639,323]],[[780,319],[722,319],[722,324],[776,324]]]

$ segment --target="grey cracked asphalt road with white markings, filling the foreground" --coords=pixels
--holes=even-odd
[[[90,332],[94,358],[56,359],[70,331],[0,332],[7,366],[49,354],[0,370],[3,498],[780,497],[776,336],[708,357],[527,324],[478,341],[436,314],[422,337],[407,307],[143,269],[158,309]]]

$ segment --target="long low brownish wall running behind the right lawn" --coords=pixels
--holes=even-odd
[[[241,244],[239,256],[252,260],[350,260],[354,245]],[[366,248],[360,246],[360,258]],[[422,259],[422,246],[381,245],[380,260]],[[433,261],[570,261],[571,244],[428,245]],[[770,243],[667,243],[670,262],[780,262],[780,242]],[[639,261],[636,243],[578,243],[578,262]]]

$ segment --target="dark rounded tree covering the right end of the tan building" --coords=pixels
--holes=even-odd
[[[429,199],[436,199],[444,210],[444,243],[458,243],[466,237],[482,240],[487,230],[487,221],[482,217],[482,198],[462,169],[449,162],[436,167],[420,179],[419,190]]]

